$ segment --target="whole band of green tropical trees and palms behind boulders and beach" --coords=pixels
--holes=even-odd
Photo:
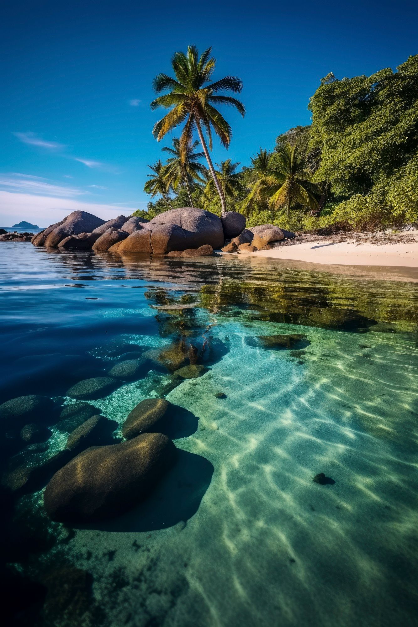
[[[309,102],[310,126],[279,135],[273,150],[260,147],[249,167],[231,159],[213,166],[212,130],[228,147],[231,129],[214,105],[244,115],[238,78],[209,83],[215,68],[210,49],[176,53],[175,78],[156,77],[151,107],[170,108],[154,127],[162,139],[178,125],[163,165],[149,166],[145,191],[161,196],[148,204],[154,216],[169,206],[197,206],[214,213],[240,211],[250,226],[275,223],[292,230],[369,229],[418,222],[418,55],[392,71],[321,80]],[[196,132],[198,139],[193,141]],[[205,139],[206,137],[206,139]],[[203,152],[195,152],[198,144]],[[201,161],[206,158],[207,167]]]

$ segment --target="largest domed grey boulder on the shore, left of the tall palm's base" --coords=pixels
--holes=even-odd
[[[203,244],[210,244],[212,248],[221,248],[225,241],[221,219],[214,213],[203,209],[186,207],[164,211],[150,220],[147,228],[154,230],[155,226],[161,224],[179,226],[185,233],[184,244],[174,246],[174,242],[168,241],[167,251],[199,248]],[[175,233],[178,238],[177,231]]]

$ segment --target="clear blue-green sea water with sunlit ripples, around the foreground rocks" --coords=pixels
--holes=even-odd
[[[88,403],[119,425],[146,398],[183,412],[176,465],[122,517],[66,527],[42,485],[3,488],[13,624],[417,624],[418,283],[0,246],[0,403],[74,403],[135,358]],[[179,382],[161,354],[191,344],[207,370]],[[50,429],[17,453],[8,435],[3,473],[63,450]]]

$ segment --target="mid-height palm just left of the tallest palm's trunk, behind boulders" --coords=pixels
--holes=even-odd
[[[193,152],[199,144],[198,140],[193,144],[188,144],[185,150],[181,150],[180,139],[178,139],[178,137],[173,137],[171,144],[173,144],[173,148],[169,148],[168,146],[163,148],[165,152],[171,155],[171,157],[167,159],[166,181],[168,186],[172,187],[174,190],[184,181],[190,206],[193,207],[190,187],[193,185],[195,179],[200,179],[206,172],[205,166],[199,163],[199,159],[204,157],[205,154],[203,152]]]

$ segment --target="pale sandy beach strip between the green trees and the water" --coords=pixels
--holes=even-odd
[[[418,234],[380,233],[327,237],[297,236],[292,242],[277,242],[272,248],[240,254],[326,265],[400,266],[418,268]]]

